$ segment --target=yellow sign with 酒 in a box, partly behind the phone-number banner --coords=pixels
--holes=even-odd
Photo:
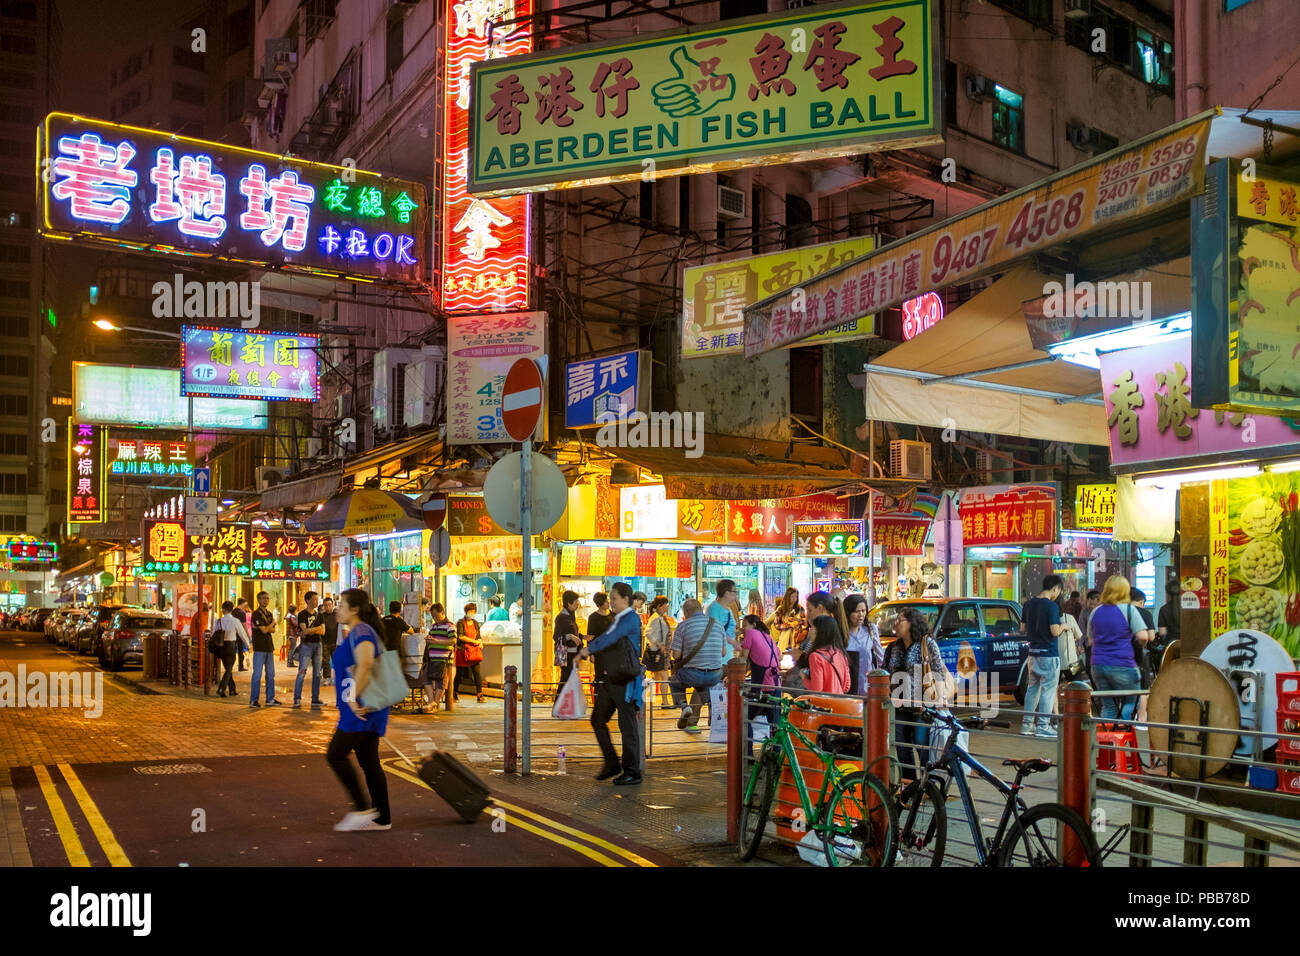
[[[692,265],[684,278],[681,358],[740,355],[745,351],[746,306],[784,293],[875,247],[875,238],[863,235],[727,263]],[[812,336],[807,345],[871,336],[875,333],[874,320],[874,316],[850,319]]]

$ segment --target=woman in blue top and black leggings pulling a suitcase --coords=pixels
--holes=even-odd
[[[354,809],[334,829],[389,830],[393,826],[389,816],[389,784],[380,765],[380,737],[389,726],[389,709],[372,710],[363,704],[374,656],[384,653],[380,644],[384,622],[370,604],[370,596],[360,588],[350,588],[339,596],[338,617],[348,631],[330,658],[338,675],[334,684],[338,727],[330,737],[325,760],[347,788]],[[365,774],[369,800],[361,792],[356,769],[348,760],[352,750],[356,750],[356,761]]]

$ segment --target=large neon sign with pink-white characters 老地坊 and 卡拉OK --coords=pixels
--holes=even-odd
[[[47,235],[403,285],[429,274],[416,182],[70,113],[46,117],[36,160]]]

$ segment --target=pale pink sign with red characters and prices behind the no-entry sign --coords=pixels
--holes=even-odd
[[[512,441],[500,416],[506,373],[517,359],[541,360],[545,368],[545,312],[450,316],[447,444]]]

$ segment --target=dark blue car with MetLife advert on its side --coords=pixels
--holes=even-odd
[[[1024,702],[1024,662],[1030,643],[1020,635],[1020,605],[989,597],[919,597],[905,601],[884,601],[868,613],[868,619],[880,628],[880,640],[887,646],[893,643],[893,624],[900,611],[914,607],[930,624],[931,635],[939,643],[944,666],[958,682],[958,693],[975,693],[978,682],[988,680],[1001,693],[1014,692],[1019,704]],[[988,678],[979,678],[988,674]],[[967,685],[965,682],[976,682]]]

